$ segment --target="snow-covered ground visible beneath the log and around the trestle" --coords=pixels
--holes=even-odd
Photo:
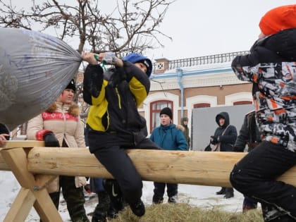
[[[152,204],[153,183],[144,181],[142,200],[144,204]],[[11,172],[0,171],[0,221],[3,221],[13,200],[16,198],[20,185]],[[230,199],[223,198],[223,195],[216,195],[220,187],[208,187],[199,185],[179,185],[179,202],[199,206],[203,209],[223,209],[225,211],[240,212],[242,211],[243,196],[240,192],[235,191],[235,197]],[[88,200],[85,204],[87,214],[94,210],[97,197],[92,201]],[[167,200],[167,197],[164,197]],[[62,200],[63,201],[63,200]],[[59,212],[63,221],[70,221],[66,204],[60,204]],[[39,221],[39,216],[35,209],[30,211],[26,222]]]

